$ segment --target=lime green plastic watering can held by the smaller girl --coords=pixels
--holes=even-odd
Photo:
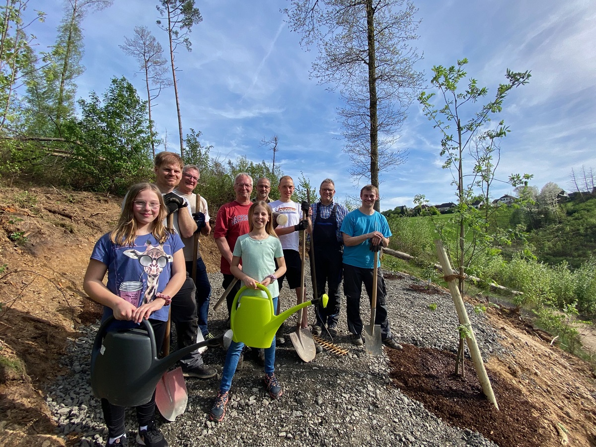
[[[232,302],[232,315],[230,316],[232,340],[242,342],[250,347],[270,347],[278,328],[290,315],[308,305],[318,303],[319,300],[325,308],[329,300],[327,294],[323,294],[320,299],[306,301],[280,313],[280,315],[275,315],[273,298],[269,289],[263,284],[257,284],[257,287],[255,289],[244,286],[238,290]]]

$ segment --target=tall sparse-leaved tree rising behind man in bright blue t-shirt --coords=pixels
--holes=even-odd
[[[406,161],[396,148],[406,111],[417,97],[423,73],[414,69],[420,56],[411,42],[417,9],[404,0],[290,0],[284,13],[290,29],[302,34],[300,45],[315,44],[319,56],[312,76],[339,86],[344,152],[350,175],[379,185],[379,172]],[[380,210],[380,201],[375,203]]]

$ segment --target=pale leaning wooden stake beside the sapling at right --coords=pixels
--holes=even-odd
[[[455,272],[451,268],[451,262],[449,262],[449,257],[447,256],[445,247],[443,247],[442,241],[436,240],[434,241],[434,244],[437,247],[437,254],[439,254],[439,262],[443,266],[443,273],[445,274],[445,276],[451,277],[452,275],[455,275]],[[447,284],[449,286],[449,291],[451,292],[451,297],[455,305],[455,310],[457,311],[457,317],[460,321],[460,326],[463,326],[465,328],[465,331],[462,331],[462,333],[465,335],[465,341],[468,343],[468,347],[470,348],[470,356],[472,358],[472,362],[474,364],[474,369],[476,370],[476,375],[478,376],[480,386],[482,387],[482,392],[489,400],[489,402],[495,405],[496,409],[499,409],[499,405],[498,403],[496,403],[495,393],[493,393],[492,391],[491,380],[489,380],[488,374],[486,374],[484,362],[482,361],[482,354],[480,353],[480,349],[478,348],[476,337],[474,337],[474,331],[472,330],[470,318],[468,318],[468,313],[465,311],[464,300],[462,300],[460,289],[457,287],[457,284],[455,282],[456,278],[457,277],[453,276],[451,281],[448,281]]]

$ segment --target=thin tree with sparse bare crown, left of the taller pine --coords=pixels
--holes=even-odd
[[[155,144],[157,134],[153,130],[151,119],[151,101],[159,97],[162,88],[172,85],[172,80],[164,75],[167,72],[167,61],[163,57],[162,45],[157,42],[155,36],[146,26],[135,26],[134,38],[124,38],[125,44],[119,45],[125,54],[135,57],[139,63],[139,73],[145,76],[145,87],[147,88],[147,108],[149,116],[149,127],[151,129],[151,150],[155,158]]]

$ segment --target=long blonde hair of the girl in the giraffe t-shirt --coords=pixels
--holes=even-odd
[[[132,208],[135,206],[134,201],[136,200],[136,197],[138,197],[142,191],[146,190],[151,190],[156,193],[159,199],[159,213],[157,213],[157,217],[153,221],[151,234],[153,234],[160,244],[163,244],[169,235],[172,234],[173,230],[167,229],[163,225],[163,219],[166,218],[167,209],[163,202],[161,191],[153,183],[142,182],[132,185],[131,189],[126,193],[126,199],[124,206],[122,207],[122,213],[120,214],[118,224],[116,225],[116,228],[110,232],[110,240],[112,243],[121,246],[132,246],[135,243],[137,226]]]

